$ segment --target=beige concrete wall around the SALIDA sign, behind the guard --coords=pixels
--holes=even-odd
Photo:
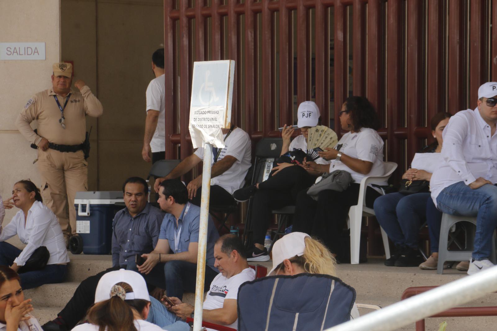
[[[52,64],[60,60],[60,1],[0,1],[0,42],[45,42],[46,60],[0,61],[0,194],[11,196],[15,181],[41,185],[37,152],[17,131],[15,119],[29,98],[51,86]],[[17,210],[7,211],[5,223]]]

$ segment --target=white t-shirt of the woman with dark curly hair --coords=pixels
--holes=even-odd
[[[385,173],[383,169],[383,140],[376,130],[362,128],[358,132],[347,132],[338,141],[335,149],[351,158],[372,162],[373,167],[367,174],[368,176],[383,176]],[[360,183],[361,179],[366,176],[352,170],[341,161],[331,160],[330,172],[334,170],[350,172],[356,183]],[[384,185],[386,184],[385,182]]]

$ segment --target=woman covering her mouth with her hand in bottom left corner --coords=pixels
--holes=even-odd
[[[31,299],[24,300],[19,275],[0,265],[0,331],[41,331],[33,311]]]

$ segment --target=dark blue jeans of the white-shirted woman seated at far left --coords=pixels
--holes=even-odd
[[[0,242],[0,265],[10,266],[22,250],[6,242]],[[66,264],[48,264],[45,268],[19,274],[22,289],[38,287],[43,284],[62,283],[66,277]]]

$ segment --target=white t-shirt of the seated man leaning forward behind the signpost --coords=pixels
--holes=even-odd
[[[225,138],[226,135],[223,135]],[[245,175],[250,167],[251,160],[251,143],[247,132],[240,128],[235,128],[226,139],[225,147],[221,150],[217,162],[221,161],[225,156],[231,155],[237,161],[225,172],[211,179],[211,185],[219,185],[228,193],[233,194],[235,190],[242,188],[245,183]],[[199,147],[195,153],[201,160],[204,159],[204,148]],[[214,164],[212,155],[212,164]]]

